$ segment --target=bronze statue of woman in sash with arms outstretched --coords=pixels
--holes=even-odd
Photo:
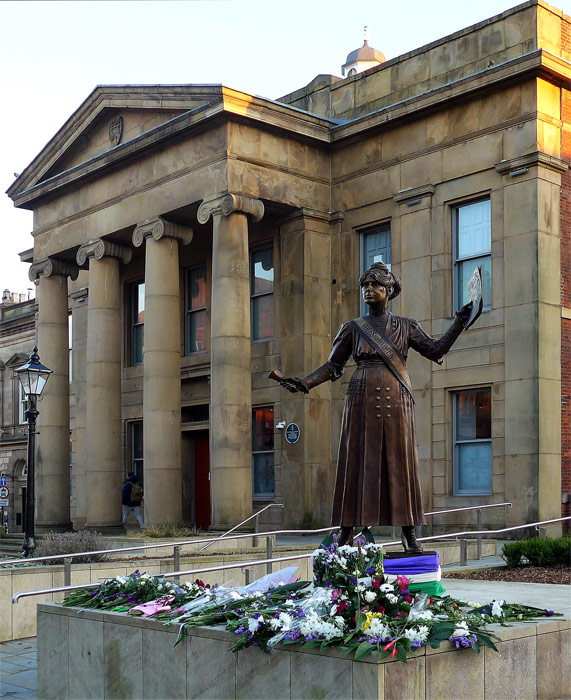
[[[279,381],[288,391],[307,394],[339,379],[353,356],[357,368],[345,396],[331,524],[341,527],[339,545],[352,543],[354,527],[400,525],[405,551],[421,552],[414,528],[424,523],[424,514],[406,359],[412,348],[442,362],[462,330],[479,316],[482,301],[476,302],[478,308],[473,301],[463,306],[446,333],[434,340],[418,321],[388,310],[402,285],[385,264],[371,265],[359,284],[369,313],[341,326],[324,365],[306,377],[281,375]]]

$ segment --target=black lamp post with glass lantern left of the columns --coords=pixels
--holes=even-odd
[[[24,549],[25,557],[29,557],[36,548],[34,521],[35,521],[35,459],[36,459],[36,419],[39,412],[36,408],[44,386],[52,373],[51,369],[40,363],[38,348],[35,347],[30,359],[25,365],[14,370],[22,384],[24,394],[28,398],[28,408],[24,415],[28,421],[28,478],[26,482],[26,522],[24,523]]]

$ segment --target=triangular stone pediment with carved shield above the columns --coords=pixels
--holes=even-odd
[[[100,86],[71,115],[7,193],[28,190],[197,107],[222,100],[220,85]]]

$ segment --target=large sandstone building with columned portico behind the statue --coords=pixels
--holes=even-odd
[[[54,370],[38,523],[117,525],[133,469],[149,523],[222,528],[277,502],[274,524],[327,524],[351,363],[305,397],[267,375],[325,361],[379,259],[403,281],[393,312],[435,336],[484,272],[484,313],[444,363],[409,359],[425,510],[510,501],[484,522],[559,517],[570,22],[530,0],[277,101],[96,88],[8,192],[34,212],[23,259]]]

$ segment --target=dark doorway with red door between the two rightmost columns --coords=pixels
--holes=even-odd
[[[185,522],[210,527],[210,446],[208,430],[183,433],[182,508]]]

